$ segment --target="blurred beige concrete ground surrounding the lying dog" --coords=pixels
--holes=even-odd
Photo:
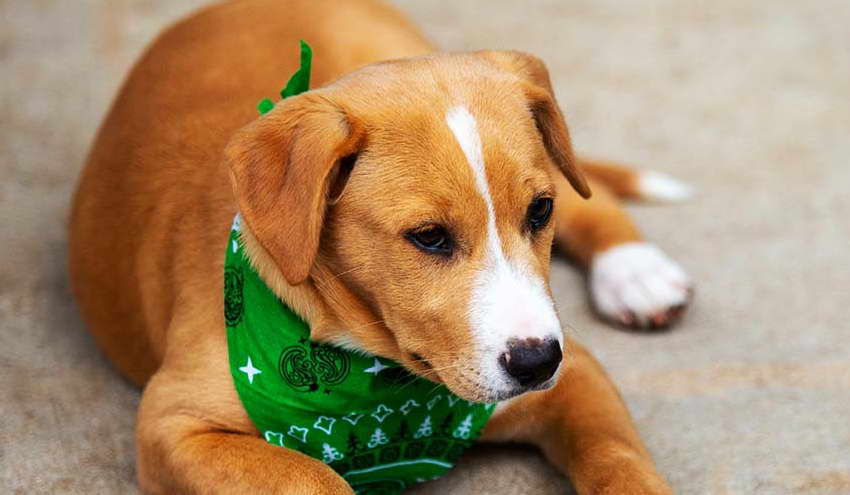
[[[0,492],[134,493],[139,392],[65,277],[65,221],[122,76],[200,0],[0,0]],[[680,494],[850,493],[850,3],[399,0],[449,49],[549,64],[579,150],[695,184],[635,206],[698,282],[683,324],[598,322],[553,266],[565,323],[621,388]],[[530,449],[481,448],[419,494],[547,494]]]

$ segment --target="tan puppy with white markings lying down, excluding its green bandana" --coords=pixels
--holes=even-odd
[[[314,89],[258,117],[302,38]],[[225,287],[224,253],[238,234],[233,252],[309,328],[303,352],[350,352],[375,375],[395,365],[464,407],[497,403],[480,406],[480,440],[539,446],[580,494],[667,494],[615,387],[564,335],[548,269],[555,242],[588,269],[605,318],[672,323],[691,281],[618,198],[687,193],[575,158],[531,55],[440,53],[376,0],[234,0],[165,31],[124,83],[74,198],[70,275],[98,345],[144,387],[146,492],[355,489],[246,412],[237,377],[280,377],[228,366],[225,313],[241,299],[222,294],[242,274]],[[326,420],[295,431],[346,423]]]

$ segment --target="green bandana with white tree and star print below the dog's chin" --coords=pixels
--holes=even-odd
[[[230,372],[266,441],[321,459],[358,494],[398,494],[451,469],[495,404],[310,340],[310,327],[245,257],[240,223],[237,215],[224,269]]]

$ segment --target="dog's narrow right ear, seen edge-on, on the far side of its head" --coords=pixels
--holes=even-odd
[[[573,188],[582,197],[589,198],[590,187],[576,164],[570,133],[555,100],[549,71],[543,61],[533,55],[511,50],[479,53],[503,70],[519,77],[529,108],[534,115],[534,122],[543,136],[546,151]]]

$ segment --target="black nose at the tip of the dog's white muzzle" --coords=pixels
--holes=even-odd
[[[502,367],[523,387],[545,382],[561,364],[557,340],[525,339],[508,342],[508,352],[499,358]]]

